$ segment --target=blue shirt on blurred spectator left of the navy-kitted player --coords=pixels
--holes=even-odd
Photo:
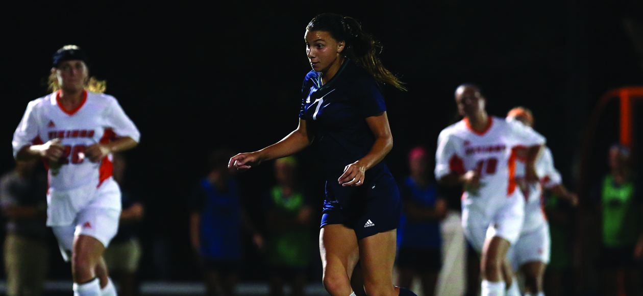
[[[239,187],[228,181],[226,190],[217,189],[204,178],[193,193],[192,210],[201,214],[199,236],[201,252],[218,261],[240,261],[241,205]]]

